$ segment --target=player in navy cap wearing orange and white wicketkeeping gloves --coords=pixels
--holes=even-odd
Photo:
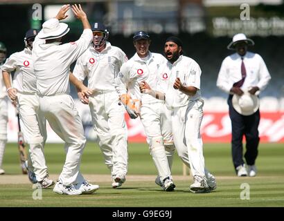
[[[175,184],[172,181],[170,166],[175,146],[172,142],[171,124],[168,122],[170,112],[163,101],[147,94],[141,94],[139,89],[142,81],[148,81],[150,86],[157,86],[157,78],[160,77],[157,70],[167,60],[163,55],[149,51],[150,36],[148,33],[136,32],[133,43],[136,53],[123,64],[116,78],[118,94],[127,112],[130,113],[130,117],[140,116],[141,118],[147,135],[150,155],[159,173],[156,183],[162,186],[164,191],[173,191]],[[161,77],[167,78],[168,75]]]

